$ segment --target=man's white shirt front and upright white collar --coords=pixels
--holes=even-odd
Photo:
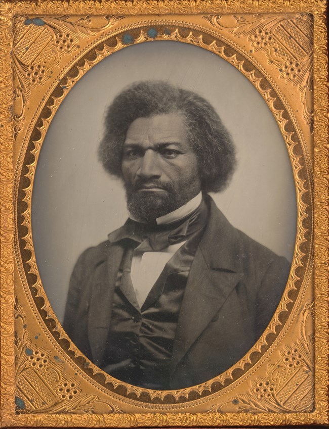
[[[201,192],[184,206],[168,213],[164,216],[158,217],[156,223],[158,225],[165,225],[173,222],[177,222],[180,219],[188,216],[200,205],[202,200]],[[130,216],[132,218],[132,216]],[[135,219],[134,219],[135,220]],[[147,295],[152,289],[154,283],[159,277],[163,268],[167,262],[171,259],[177,250],[183,246],[185,242],[177,243],[168,246],[161,252],[143,252],[138,250],[138,247],[134,250],[132,267],[131,267],[131,279],[134,286],[137,302],[140,307],[144,304]]]

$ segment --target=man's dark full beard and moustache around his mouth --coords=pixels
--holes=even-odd
[[[152,180],[152,184],[166,190],[166,193],[156,192],[138,192],[138,189],[145,182],[139,180],[131,184],[126,183],[127,207],[129,212],[142,222],[154,222],[156,218],[164,216],[187,203],[181,195],[175,192],[173,185],[170,182],[161,182]],[[185,201],[186,200],[186,201]]]

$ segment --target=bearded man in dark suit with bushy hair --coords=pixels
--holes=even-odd
[[[124,382],[193,386],[251,349],[282,296],[289,263],[234,228],[210,191],[235,165],[213,107],[165,82],[138,82],[108,109],[99,149],[130,217],[78,259],[64,329]]]

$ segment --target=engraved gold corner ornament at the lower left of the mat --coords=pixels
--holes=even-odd
[[[93,413],[100,403],[107,412],[120,412],[96,395],[84,394],[74,377],[66,378],[63,362],[44,347],[37,347],[29,338],[26,317],[15,303],[15,367],[16,412],[22,413]],[[37,338],[37,336],[36,336]]]

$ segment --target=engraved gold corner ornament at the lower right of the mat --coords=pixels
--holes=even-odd
[[[252,380],[245,395],[231,398],[211,412],[305,412],[314,401],[314,305],[307,304],[300,323],[300,340],[285,347],[269,365],[267,377]],[[232,408],[233,406],[233,408]]]

